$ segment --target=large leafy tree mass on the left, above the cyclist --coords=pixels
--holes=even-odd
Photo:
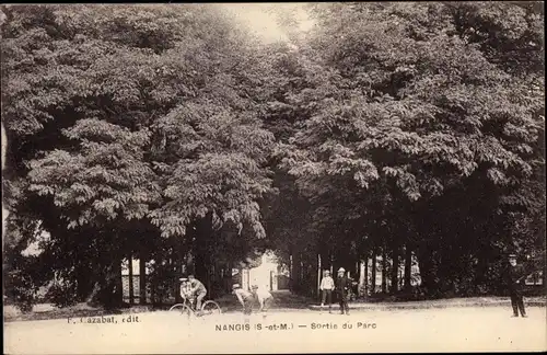
[[[113,275],[160,236],[193,241],[205,217],[264,237],[272,136],[247,92],[253,39],[230,19],[191,4],[3,12],[11,210]]]

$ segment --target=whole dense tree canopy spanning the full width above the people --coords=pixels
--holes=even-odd
[[[431,295],[545,262],[543,7],[305,9],[307,32],[272,8],[288,39],[265,44],[212,4],[2,7],[12,288],[129,254],[406,250]]]

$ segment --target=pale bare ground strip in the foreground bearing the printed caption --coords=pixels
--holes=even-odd
[[[362,310],[351,316],[291,310],[274,311],[266,319],[228,313],[187,321],[162,311],[8,322],[4,353],[545,351],[546,308],[531,307],[528,313],[527,319],[511,318],[507,307]]]

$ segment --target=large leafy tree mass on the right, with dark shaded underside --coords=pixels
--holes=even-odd
[[[337,209],[346,224],[391,225],[380,228],[386,233],[369,232],[381,244],[414,244],[428,288],[457,288],[466,271],[453,266],[479,257],[486,267],[510,247],[504,221],[537,208],[540,195],[523,192],[544,191],[534,173],[544,164],[534,148],[544,129],[543,94],[531,87],[543,84],[542,14],[510,3],[313,10],[312,58],[324,79],[290,98],[292,106],[313,108],[284,147],[288,171],[317,201],[317,211],[330,206],[326,215]],[[517,33],[509,30],[515,23],[489,13],[500,11],[515,13]],[[482,24],[491,32],[469,39],[462,16],[503,23]],[[510,50],[522,53],[519,70]]]

